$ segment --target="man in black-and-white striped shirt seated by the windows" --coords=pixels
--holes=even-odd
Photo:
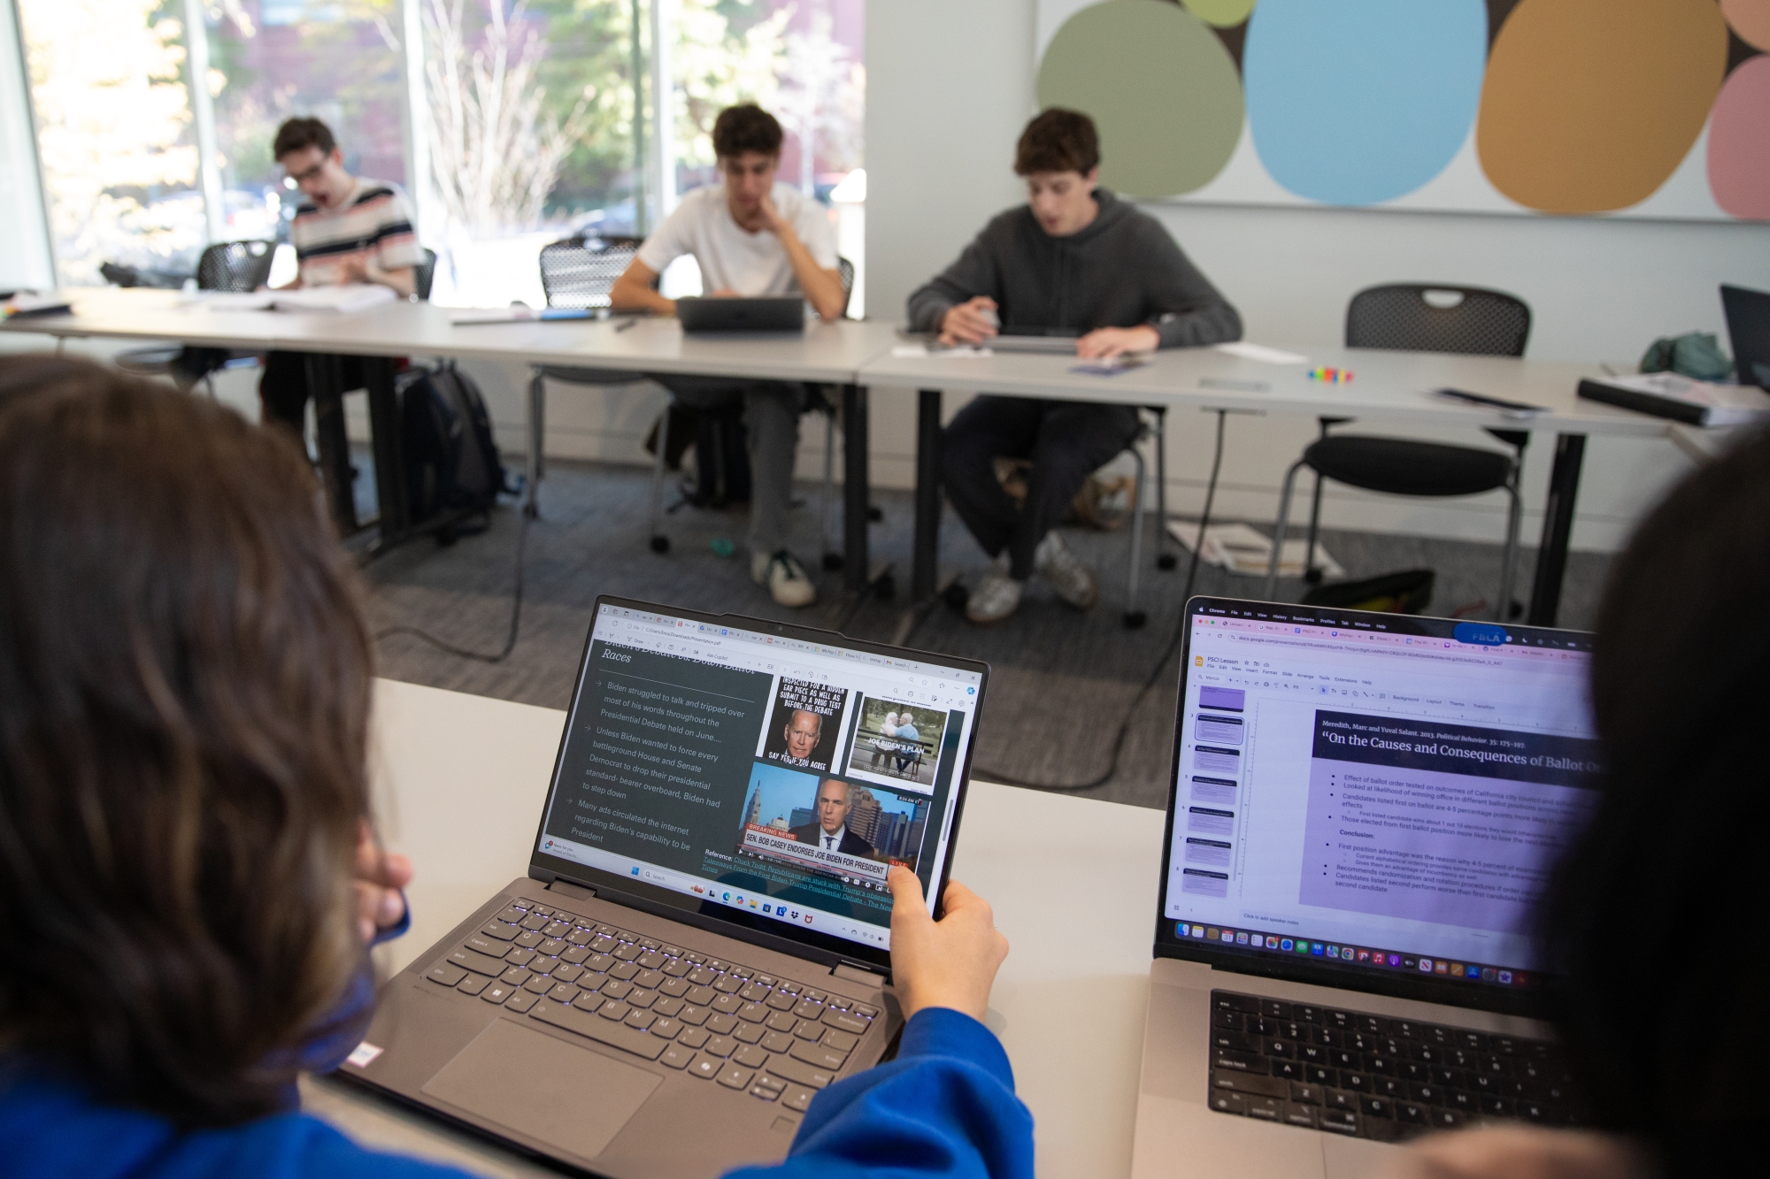
[[[396,184],[354,177],[331,127],[319,119],[290,119],[276,129],[276,163],[303,202],[289,230],[299,273],[289,289],[379,283],[400,296],[418,290],[423,250],[412,230],[412,207]],[[306,354],[271,352],[258,395],[264,420],[301,434],[310,397]],[[343,388],[361,388],[361,363],[340,356]]]

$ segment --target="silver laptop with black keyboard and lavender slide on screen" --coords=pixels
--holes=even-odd
[[[1589,637],[1193,598],[1135,1175],[1368,1175],[1577,1121],[1531,931],[1595,798]]]

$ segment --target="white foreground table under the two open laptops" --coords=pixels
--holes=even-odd
[[[375,795],[391,848],[416,860],[400,970],[527,871],[565,713],[382,680]],[[1131,1170],[1143,1006],[1161,873],[1159,811],[972,782],[954,875],[988,898],[1012,951],[989,1025],[1032,1108],[1039,1174]],[[338,1080],[306,1108],[366,1145],[487,1175],[550,1175]]]

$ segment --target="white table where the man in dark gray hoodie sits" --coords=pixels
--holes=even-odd
[[[917,506],[913,595],[935,593],[940,496],[942,391],[1002,393],[1069,402],[1115,402],[1161,409],[1223,409],[1260,414],[1356,418],[1388,425],[1460,425],[1499,430],[1556,432],[1554,471],[1543,515],[1542,549],[1528,621],[1552,627],[1574,531],[1574,501],[1586,437],[1666,437],[1669,423],[1614,405],[1581,400],[1581,377],[1602,375],[1597,365],[1526,361],[1497,356],[1391,352],[1374,349],[1297,349],[1306,365],[1271,365],[1216,349],[1170,349],[1150,363],[1110,377],[1076,374],[1076,358],[1050,354],[892,356],[860,370],[866,384],[906,384],[920,389],[917,407]],[[1312,381],[1308,370],[1351,370],[1347,384]],[[1533,405],[1549,412],[1528,420],[1503,418],[1446,398],[1430,389],[1458,388]]]

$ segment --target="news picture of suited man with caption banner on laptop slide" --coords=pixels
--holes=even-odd
[[[890,864],[915,871],[927,813],[919,795],[756,761],[736,852],[883,890]]]

